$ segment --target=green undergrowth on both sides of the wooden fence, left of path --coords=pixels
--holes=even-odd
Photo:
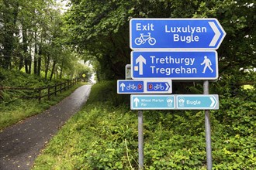
[[[59,81],[61,80],[51,82],[43,81],[38,76],[0,68],[0,87],[47,87],[47,85],[52,86]],[[37,99],[26,99],[22,97],[23,95],[36,96],[37,93],[35,94],[31,90],[0,90],[0,131],[3,128],[22,121],[26,117],[43,112],[43,110],[67,97],[79,86],[81,86],[81,83],[74,85],[74,87],[71,87],[67,91],[57,93],[57,97],[51,96],[50,100],[44,97],[41,103]]]

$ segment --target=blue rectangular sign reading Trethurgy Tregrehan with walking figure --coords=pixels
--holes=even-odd
[[[133,51],[133,80],[216,80],[216,51]]]

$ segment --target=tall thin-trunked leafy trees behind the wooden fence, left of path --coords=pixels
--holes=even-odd
[[[0,66],[45,80],[92,72],[81,70],[81,57],[64,42],[63,27],[52,0],[0,0]]]

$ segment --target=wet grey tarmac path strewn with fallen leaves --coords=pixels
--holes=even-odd
[[[0,169],[30,169],[50,138],[85,104],[90,91],[91,85],[79,87],[42,114],[0,132]]]

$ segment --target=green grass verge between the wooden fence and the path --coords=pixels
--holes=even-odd
[[[0,104],[0,130],[22,121],[26,117],[39,114],[43,112],[43,110],[47,110],[47,108],[63,100],[64,97],[67,97],[81,85],[82,84],[79,83],[63,93],[57,93],[57,97],[51,96],[50,100],[47,100],[47,97],[44,97],[41,104],[39,104],[39,101],[36,99],[26,100],[19,98],[12,99],[9,102],[3,102]]]

